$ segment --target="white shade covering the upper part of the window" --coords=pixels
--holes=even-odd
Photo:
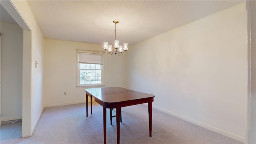
[[[103,54],[92,54],[78,52],[78,63],[80,64],[103,64]]]

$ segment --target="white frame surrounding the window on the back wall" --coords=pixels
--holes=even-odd
[[[79,53],[87,53],[87,54],[102,54],[102,70],[101,70],[101,83],[100,84],[80,84],[80,64],[79,64]],[[86,51],[86,50],[77,50],[76,51],[76,87],[86,87],[86,88],[90,88],[90,87],[100,87],[100,86],[104,86],[105,83],[105,70],[104,70],[104,53],[103,52],[93,52],[93,51]]]

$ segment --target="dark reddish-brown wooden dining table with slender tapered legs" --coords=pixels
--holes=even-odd
[[[119,144],[121,107],[148,103],[149,136],[152,136],[152,102],[154,101],[154,95],[120,87],[88,88],[85,91],[86,117],[88,117],[88,96],[91,100],[91,114],[92,97],[94,97],[94,100],[103,107],[104,144],[106,144],[106,108],[116,108],[116,137],[117,144]]]

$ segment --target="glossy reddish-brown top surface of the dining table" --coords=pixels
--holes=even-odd
[[[138,100],[143,98],[153,98],[153,94],[146,94],[120,87],[109,88],[88,88],[86,92],[95,98],[106,103],[124,102],[130,100]]]

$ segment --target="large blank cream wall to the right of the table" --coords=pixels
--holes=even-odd
[[[155,94],[154,108],[245,142],[246,31],[242,3],[134,44],[127,88]]]

